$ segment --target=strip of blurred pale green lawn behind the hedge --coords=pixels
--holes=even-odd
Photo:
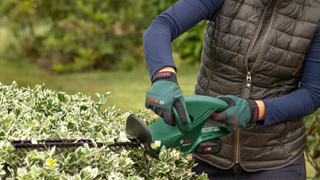
[[[21,67],[21,68],[19,68]],[[34,87],[36,84],[45,84],[46,88],[67,94],[82,92],[98,100],[95,93],[103,94],[110,91],[106,106],[115,105],[120,112],[144,109],[146,90],[150,87],[149,73],[146,69],[131,72],[92,72],[66,75],[49,75],[37,67],[23,63],[0,63],[0,82],[5,85],[16,81],[21,87]],[[196,68],[187,68],[179,72],[179,83],[184,94],[193,94],[197,77]]]

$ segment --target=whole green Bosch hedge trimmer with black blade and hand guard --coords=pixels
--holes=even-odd
[[[157,157],[162,146],[166,148],[180,147],[180,151],[188,154],[192,152],[216,154],[221,150],[222,143],[219,137],[229,134],[224,125],[205,125],[208,118],[217,112],[221,112],[228,107],[228,104],[222,100],[201,96],[185,95],[186,106],[191,122],[182,123],[178,113],[173,109],[176,126],[167,125],[163,119],[156,121],[149,127],[137,116],[131,114],[127,118],[126,131],[129,136],[129,142],[118,142],[107,145],[113,149],[117,147],[140,147],[143,144],[146,152],[151,157]],[[152,143],[160,141],[161,145],[152,148]],[[56,147],[57,149],[72,149],[84,144],[89,146],[103,147],[103,143],[92,142],[88,139],[80,140],[40,140],[37,143],[31,141],[11,141],[11,145],[17,149],[26,150],[45,150]]]

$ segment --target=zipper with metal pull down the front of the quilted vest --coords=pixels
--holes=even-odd
[[[272,1],[272,0],[271,0],[271,1]],[[270,3],[268,4],[268,6],[271,4],[271,1],[270,1]],[[243,94],[242,94],[242,98],[244,98],[244,99],[248,99],[248,98],[249,98],[250,90],[251,90],[251,74],[252,74],[252,70],[253,70],[253,68],[256,66],[257,61],[258,61],[258,59],[259,59],[259,57],[260,57],[263,44],[264,44],[264,42],[265,42],[265,40],[266,40],[266,38],[267,38],[267,36],[268,36],[268,34],[269,34],[271,25],[272,25],[272,23],[273,23],[273,17],[274,17],[274,14],[275,14],[275,11],[276,11],[276,8],[277,8],[277,6],[278,6],[279,1],[280,1],[280,0],[277,0],[276,5],[274,6],[274,9],[273,9],[273,12],[272,12],[271,21],[270,21],[268,30],[267,30],[267,32],[266,32],[266,35],[265,35],[264,38],[263,38],[263,41],[262,41],[262,44],[261,44],[261,47],[260,47],[258,56],[257,56],[257,58],[256,58],[256,60],[255,60],[255,62],[254,62],[254,64],[253,64],[253,66],[252,66],[252,68],[251,68],[250,71],[249,71],[249,65],[248,65],[248,64],[249,64],[249,55],[251,54],[252,49],[253,49],[253,47],[254,47],[257,39],[258,39],[259,33],[260,33],[260,31],[261,31],[261,28],[262,28],[262,25],[263,25],[263,22],[264,22],[264,19],[265,19],[265,17],[266,17],[266,13],[267,13],[267,8],[268,8],[268,6],[265,8],[265,10],[264,10],[264,12],[263,12],[263,16],[262,16],[262,19],[261,19],[260,24],[259,24],[259,26],[258,26],[257,33],[256,33],[256,35],[255,35],[255,37],[254,37],[254,39],[253,39],[253,43],[251,43],[251,45],[250,45],[250,48],[249,48],[248,53],[247,53],[247,55],[246,55],[245,62],[246,62],[247,77],[246,77],[246,84],[245,84],[245,87],[244,87],[244,90],[243,90]],[[239,139],[240,139],[240,129],[237,130],[236,164],[239,164],[239,159],[240,159],[240,157],[239,157],[239,141],[240,141],[240,140],[239,140]]]

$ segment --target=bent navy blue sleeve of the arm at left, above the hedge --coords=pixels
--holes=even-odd
[[[154,19],[143,34],[150,77],[165,66],[176,68],[171,42],[202,20],[211,20],[223,0],[180,0]]]

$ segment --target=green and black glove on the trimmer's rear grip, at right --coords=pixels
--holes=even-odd
[[[254,100],[242,99],[233,95],[218,96],[217,98],[227,102],[229,107],[212,116],[211,119],[223,123],[230,132],[257,122],[259,107]]]

